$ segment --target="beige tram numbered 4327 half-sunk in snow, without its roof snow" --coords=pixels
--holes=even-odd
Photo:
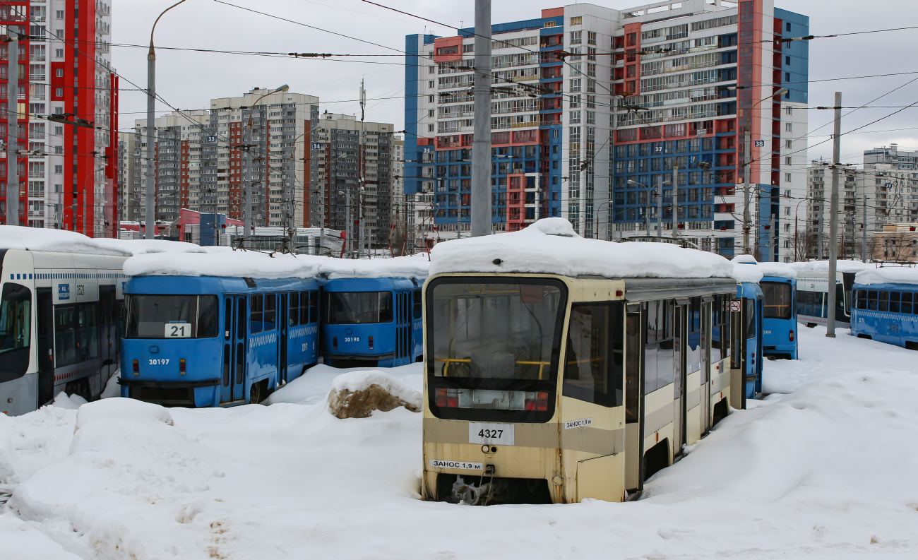
[[[423,498],[638,496],[728,413],[736,286],[727,277],[432,275]]]

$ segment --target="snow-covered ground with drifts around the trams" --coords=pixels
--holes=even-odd
[[[625,504],[420,501],[420,414],[338,420],[324,366],[270,406],[0,417],[0,558],[914,558],[918,354],[823,334]]]

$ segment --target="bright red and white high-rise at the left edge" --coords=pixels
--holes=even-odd
[[[0,6],[3,223],[115,235],[118,76],[111,68],[110,27],[105,0]],[[8,118],[11,91],[17,92],[15,120]]]

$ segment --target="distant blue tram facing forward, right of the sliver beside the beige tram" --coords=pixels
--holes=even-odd
[[[797,279],[765,274],[762,289],[762,353],[797,359]]]

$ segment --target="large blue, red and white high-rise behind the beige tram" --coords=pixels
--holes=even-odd
[[[675,234],[730,256],[748,184],[751,252],[789,260],[808,50],[781,39],[808,17],[770,0],[576,4],[491,30],[494,230],[562,216],[585,237]],[[435,196],[445,231],[470,224],[475,39],[406,39],[405,189]]]

